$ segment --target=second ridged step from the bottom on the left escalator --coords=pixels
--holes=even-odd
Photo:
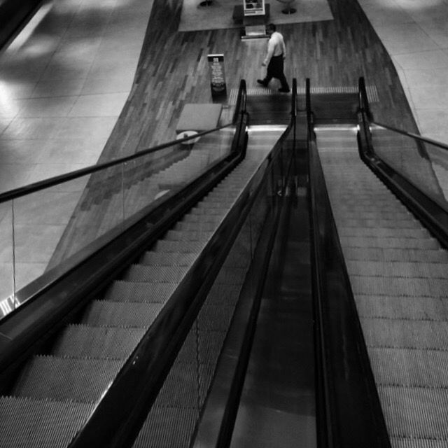
[[[20,373],[11,395],[95,402],[124,361],[34,356]]]

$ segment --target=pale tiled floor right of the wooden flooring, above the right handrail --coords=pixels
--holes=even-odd
[[[358,0],[391,55],[422,135],[448,143],[448,0]]]

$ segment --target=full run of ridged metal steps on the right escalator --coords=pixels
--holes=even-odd
[[[332,211],[394,448],[448,445],[448,253],[358,157],[317,127]]]

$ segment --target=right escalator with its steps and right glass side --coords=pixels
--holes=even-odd
[[[358,113],[357,126],[314,125],[357,325],[391,446],[442,447],[448,148],[375,123],[363,78]]]

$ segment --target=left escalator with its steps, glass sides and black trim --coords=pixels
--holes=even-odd
[[[135,437],[136,447],[147,446],[148,437],[154,446],[176,446],[169,437],[190,437],[253,248],[272,213],[269,191],[279,176],[273,167],[286,126],[253,130],[247,139],[244,120],[242,112],[234,139],[234,144],[246,142],[244,160],[236,164],[233,154],[221,155],[205,164],[212,169],[204,172],[201,167],[200,180],[204,178],[208,188],[205,196],[195,193],[197,181],[184,187],[185,180],[180,179],[181,193],[193,189],[199,202],[189,204],[182,195],[177,203],[168,200],[168,218],[162,215],[160,228],[143,220],[141,227],[155,235],[152,241],[137,237],[130,244],[140,225],[132,223],[127,231],[131,236],[111,241],[121,246],[124,258],[113,260],[116,255],[106,245],[88,255],[80,274],[76,268],[68,269],[61,279],[65,286],[56,283],[55,290],[52,286],[38,290],[36,297],[3,318],[2,447],[123,447],[132,446]],[[194,151],[204,148],[198,145]],[[167,188],[158,174],[155,179],[160,188]],[[174,181],[179,183],[179,176]],[[116,206],[103,207],[102,213],[113,216],[120,202],[116,195],[108,196]],[[86,203],[81,200],[80,204]],[[82,229],[87,229],[85,211],[91,213],[101,202],[88,204],[76,209]],[[169,212],[177,209],[180,218],[171,218]],[[141,213],[141,205],[137,211]],[[155,212],[160,214],[158,207]],[[101,214],[99,218],[106,221]],[[66,243],[62,246],[66,248]],[[77,258],[78,253],[69,257]],[[115,267],[108,271],[110,262]],[[99,265],[99,274],[89,272],[92,263]],[[71,298],[70,286],[78,288]],[[160,430],[167,419],[176,417],[185,423],[182,431]]]

